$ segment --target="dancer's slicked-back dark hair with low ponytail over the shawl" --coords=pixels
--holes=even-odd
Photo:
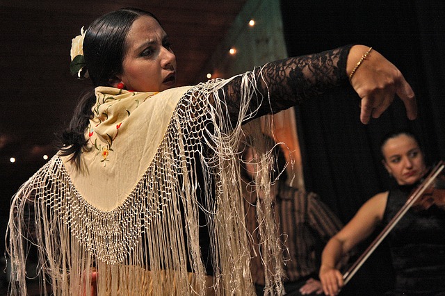
[[[122,74],[126,54],[126,37],[133,22],[147,15],[159,20],[145,10],[122,8],[95,19],[87,28],[83,40],[86,69],[94,87],[111,86],[115,76]],[[92,119],[92,106],[96,97],[93,90],[84,93],[77,104],[70,126],[58,135],[60,155],[70,156],[70,161],[80,165],[82,149],[86,149],[85,131]]]

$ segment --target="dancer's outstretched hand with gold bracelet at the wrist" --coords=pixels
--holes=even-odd
[[[350,74],[369,47],[355,45],[350,49],[346,72]],[[397,94],[405,104],[407,117],[417,117],[414,92],[402,73],[384,56],[372,49],[366,60],[357,68],[350,81],[361,101],[360,120],[367,124],[371,118],[382,115]]]

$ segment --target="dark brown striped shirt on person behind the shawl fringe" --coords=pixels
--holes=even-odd
[[[259,254],[258,224],[255,219],[257,213],[253,206],[256,195],[253,192],[247,195],[246,220],[248,229],[253,234],[255,251]],[[323,247],[343,227],[339,218],[315,193],[302,192],[285,184],[280,184],[274,209],[275,219],[285,245],[284,282],[298,281],[308,276],[317,277]],[[252,256],[252,279],[254,283],[264,285],[261,258]]]

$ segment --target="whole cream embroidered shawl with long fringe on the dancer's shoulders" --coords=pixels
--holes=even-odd
[[[253,295],[239,142],[241,123],[256,112],[250,100],[261,95],[254,74],[244,75],[237,122],[230,122],[225,94],[218,93],[225,80],[159,93],[97,88],[80,169],[56,155],[13,198],[10,293],[26,294],[32,244],[47,283],[43,294],[81,295],[95,270],[98,295]],[[262,190],[270,190],[263,173]],[[271,201],[258,200],[266,292],[279,295]],[[200,211],[213,277],[202,258]]]

